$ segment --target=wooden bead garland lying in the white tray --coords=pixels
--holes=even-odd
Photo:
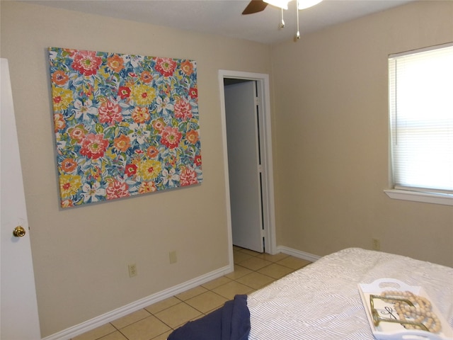
[[[431,302],[427,298],[415,295],[407,290],[405,292],[387,290],[381,295],[383,297],[399,299],[394,303],[394,308],[396,313],[398,313],[399,319],[404,322],[404,327],[407,329],[424,329],[431,333],[438,333],[442,329],[440,320],[432,312]]]

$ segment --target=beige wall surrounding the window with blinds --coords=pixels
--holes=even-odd
[[[286,29],[286,28],[285,28]],[[272,49],[278,244],[453,266],[453,207],[391,200],[387,55],[453,41],[453,2],[422,1]]]

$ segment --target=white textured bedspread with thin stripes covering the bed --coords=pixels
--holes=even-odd
[[[248,339],[374,339],[357,283],[378,278],[422,286],[453,327],[453,268],[350,248],[249,295]]]

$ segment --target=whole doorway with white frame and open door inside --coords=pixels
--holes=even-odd
[[[268,74],[220,70],[219,85],[229,242],[274,254]],[[230,259],[232,263],[232,247]]]

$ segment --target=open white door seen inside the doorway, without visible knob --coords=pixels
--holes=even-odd
[[[233,244],[263,252],[256,81],[224,89]]]

